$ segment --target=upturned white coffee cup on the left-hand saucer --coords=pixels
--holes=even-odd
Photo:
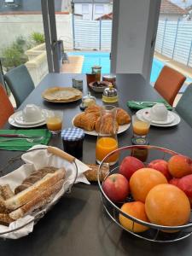
[[[43,119],[42,110],[34,104],[27,104],[22,111],[22,118],[26,122],[36,122]]]

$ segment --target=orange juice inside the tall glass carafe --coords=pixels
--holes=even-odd
[[[118,148],[118,142],[113,137],[101,137],[96,142],[96,160],[101,162],[103,158]],[[115,163],[119,154],[113,154],[108,157],[108,163]]]

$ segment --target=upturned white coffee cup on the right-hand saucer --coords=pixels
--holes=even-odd
[[[168,110],[163,103],[155,104],[150,110],[150,117],[154,121],[166,121]]]

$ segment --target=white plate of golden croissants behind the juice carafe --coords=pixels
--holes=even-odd
[[[92,105],[84,110],[84,113],[79,113],[74,116],[72,124],[75,127],[84,129],[85,134],[97,136],[101,125],[101,106]],[[111,133],[113,129],[112,117],[106,117],[102,122],[102,131],[104,133]],[[117,133],[126,131],[130,127],[131,118],[128,113],[122,108],[117,108],[115,127]]]

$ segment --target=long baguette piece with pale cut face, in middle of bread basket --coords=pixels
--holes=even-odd
[[[65,178],[66,171],[64,168],[61,168],[54,173],[49,173],[40,179],[37,183],[34,183],[31,187],[21,191],[19,194],[9,198],[5,201],[5,207],[10,210],[15,210],[32,199],[40,195],[44,190],[48,189],[50,186],[53,186],[59,180]]]

